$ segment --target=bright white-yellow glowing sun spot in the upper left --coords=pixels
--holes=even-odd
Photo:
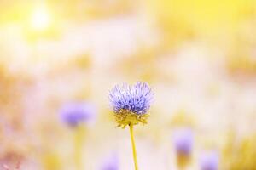
[[[31,26],[35,31],[44,31],[49,28],[51,18],[49,10],[44,6],[35,8],[32,12]]]

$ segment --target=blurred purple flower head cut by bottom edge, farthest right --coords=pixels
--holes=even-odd
[[[204,153],[200,160],[201,170],[218,170],[218,153],[211,151]]]

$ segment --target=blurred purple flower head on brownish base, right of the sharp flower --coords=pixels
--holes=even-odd
[[[193,133],[189,128],[178,129],[174,134],[174,147],[179,155],[189,156],[193,146]]]

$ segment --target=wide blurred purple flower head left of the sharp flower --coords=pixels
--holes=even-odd
[[[70,127],[89,122],[96,111],[93,105],[86,102],[69,103],[61,107],[61,120]]]

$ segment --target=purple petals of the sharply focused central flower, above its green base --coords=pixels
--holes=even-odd
[[[109,94],[110,104],[115,113],[130,111],[137,115],[147,113],[153,99],[153,92],[146,82],[134,85],[116,85]]]

